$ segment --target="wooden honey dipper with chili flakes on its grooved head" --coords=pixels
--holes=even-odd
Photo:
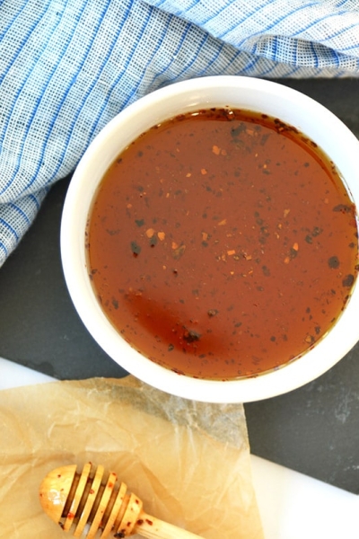
[[[84,464],[82,473],[76,464],[61,466],[48,473],[39,488],[39,500],[45,513],[65,532],[74,537],[92,539],[100,530],[101,539],[139,534],[148,539],[195,539],[177,526],[144,512],[141,499],[127,494],[127,485],[118,482],[116,473],[104,477],[104,468]]]

